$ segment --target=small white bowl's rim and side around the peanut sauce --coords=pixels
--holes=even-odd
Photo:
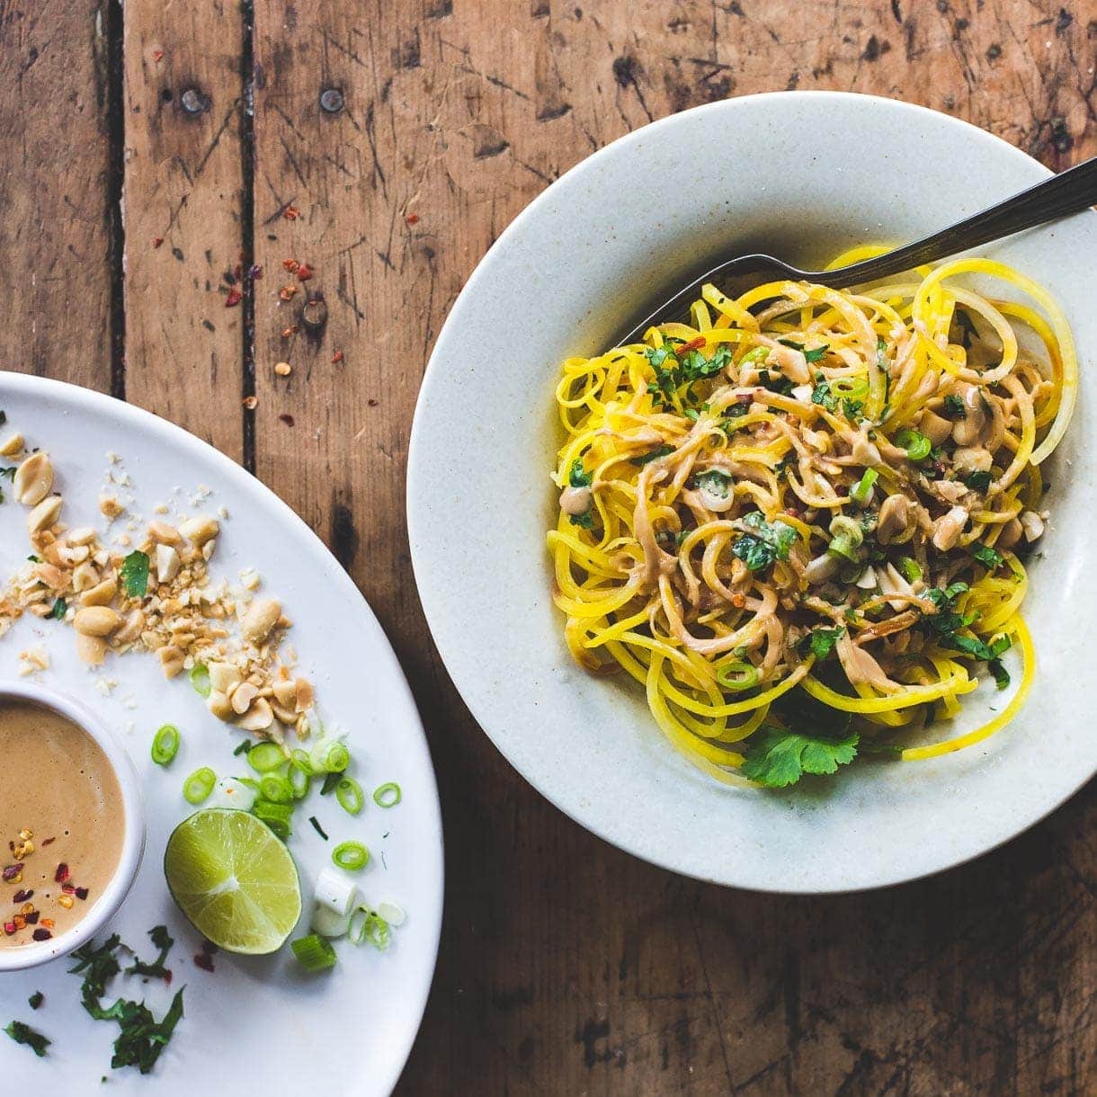
[[[145,850],[145,810],[140,784],[137,782],[137,772],[129,760],[129,755],[114,734],[79,701],[53,690],[42,689],[29,682],[0,682],[0,701],[11,700],[27,701],[45,709],[53,709],[99,744],[111,764],[114,776],[118,779],[125,830],[114,875],[111,877],[102,894],[91,904],[87,914],[71,929],[52,937],[48,941],[23,945],[18,949],[0,949],[0,972],[35,968],[47,960],[67,955],[94,937],[128,894]]]

